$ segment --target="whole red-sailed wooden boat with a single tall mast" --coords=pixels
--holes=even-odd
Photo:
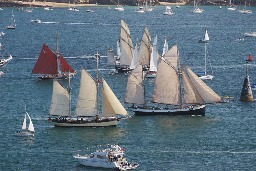
[[[64,72],[63,74],[61,72]],[[66,79],[69,75],[74,76],[76,71],[69,66],[68,62],[58,51],[58,35],[56,31],[56,53],[54,53],[45,43],[34,66],[32,74],[44,74],[37,76],[42,80]]]

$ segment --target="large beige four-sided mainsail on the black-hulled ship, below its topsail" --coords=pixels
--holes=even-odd
[[[178,72],[161,58],[158,59],[158,69],[151,102],[180,105]]]

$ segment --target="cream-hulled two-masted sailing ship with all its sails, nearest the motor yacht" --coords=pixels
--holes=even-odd
[[[116,126],[121,118],[116,114],[128,115],[123,105],[116,98],[107,82],[102,78],[102,112],[99,107],[99,86],[97,60],[97,80],[95,80],[83,67],[81,73],[80,89],[76,103],[74,117],[88,117],[86,119],[71,119],[70,80],[69,89],[64,88],[58,81],[53,81],[52,103],[49,115],[69,117],[69,119],[52,119],[54,126],[61,127],[105,127]]]

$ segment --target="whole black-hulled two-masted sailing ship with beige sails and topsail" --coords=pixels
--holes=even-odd
[[[142,67],[139,65],[130,72],[125,91],[124,102],[144,105],[132,105],[129,108],[135,115],[205,115],[205,105],[226,102],[208,87],[196,74],[185,66],[188,75],[180,65],[177,43],[170,52],[164,54],[164,60],[158,59],[155,87],[152,103],[176,107],[147,107]],[[183,78],[183,98],[181,90],[181,71]]]

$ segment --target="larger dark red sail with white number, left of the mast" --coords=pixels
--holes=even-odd
[[[33,74],[57,74],[57,58],[55,53],[44,43],[36,65],[32,70]]]

